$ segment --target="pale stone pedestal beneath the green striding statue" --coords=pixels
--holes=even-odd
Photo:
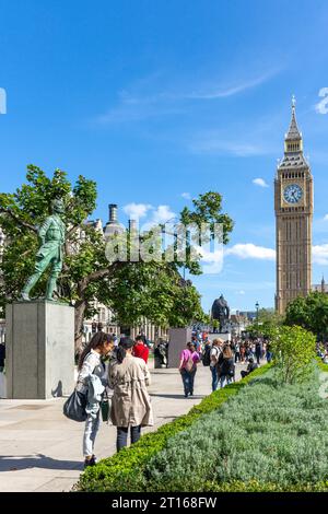
[[[7,398],[49,399],[74,388],[74,308],[45,300],[5,309]]]

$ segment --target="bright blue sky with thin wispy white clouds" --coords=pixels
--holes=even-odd
[[[235,229],[222,272],[195,280],[204,308],[221,293],[233,308],[273,306],[273,177],[295,94],[313,281],[328,280],[326,0],[0,0],[0,13],[1,190],[28,163],[60,167],[97,180],[94,218],[117,202],[122,222],[218,190]]]

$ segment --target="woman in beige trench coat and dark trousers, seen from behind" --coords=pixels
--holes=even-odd
[[[150,372],[142,359],[132,355],[132,348],[133,341],[122,338],[117,348],[117,360],[109,366],[108,383],[114,389],[110,419],[117,427],[117,452],[127,446],[129,427],[133,444],[140,439],[141,427],[154,424],[147,390]]]

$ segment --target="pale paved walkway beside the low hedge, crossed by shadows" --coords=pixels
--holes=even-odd
[[[151,364],[152,365],[152,364]],[[236,366],[236,379],[246,366]],[[150,388],[156,430],[161,424],[187,413],[211,393],[209,367],[198,366],[195,397],[183,395],[177,370],[151,370]],[[69,491],[83,468],[84,423],[66,419],[63,398],[51,400],[0,400],[0,492]],[[116,452],[116,428],[102,423],[95,453],[104,458]]]

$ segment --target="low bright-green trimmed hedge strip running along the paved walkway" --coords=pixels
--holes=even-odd
[[[85,492],[139,492],[143,491],[143,470],[151,458],[165,448],[167,441],[189,428],[200,417],[219,409],[225,401],[237,395],[254,378],[267,373],[271,364],[255,370],[244,379],[225,386],[207,396],[185,416],[162,425],[157,431],[143,435],[140,441],[121,449],[113,457],[86,468],[74,487]]]

